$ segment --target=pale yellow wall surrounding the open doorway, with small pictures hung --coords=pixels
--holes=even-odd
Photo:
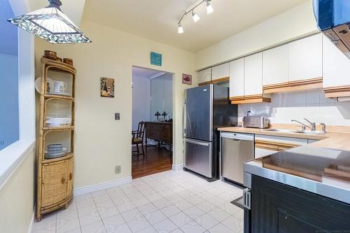
[[[71,57],[76,77],[76,138],[74,188],[115,181],[131,176],[132,66],[174,73],[174,164],[183,164],[182,73],[193,74],[197,85],[195,55],[162,43],[116,29],[82,22],[81,29],[93,43],[51,45],[36,39],[36,76],[40,76],[40,58],[44,50],[54,50],[59,57]],[[162,66],[150,64],[151,51],[160,52]],[[116,97],[99,96],[99,78],[116,79]],[[120,120],[114,120],[114,113]],[[121,165],[121,173],[115,166]]]

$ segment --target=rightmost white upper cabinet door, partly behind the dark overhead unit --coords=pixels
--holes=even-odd
[[[350,85],[350,59],[330,40],[323,38],[323,88]]]

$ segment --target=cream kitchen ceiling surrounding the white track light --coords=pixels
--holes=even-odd
[[[179,18],[198,1],[86,0],[83,17],[84,20],[197,52],[309,0],[212,0],[214,13],[207,15],[205,4],[202,4],[196,10],[201,20],[195,23],[188,15],[183,20],[185,33],[178,34],[176,24]]]

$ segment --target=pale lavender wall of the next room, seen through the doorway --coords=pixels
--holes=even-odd
[[[146,76],[132,76],[132,130],[140,121],[151,120],[151,80]]]

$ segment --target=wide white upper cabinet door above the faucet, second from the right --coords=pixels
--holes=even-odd
[[[289,45],[289,81],[322,77],[322,34]]]

